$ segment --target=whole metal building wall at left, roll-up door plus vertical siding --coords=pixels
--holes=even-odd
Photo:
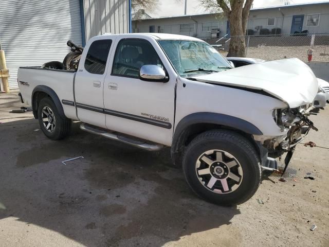
[[[9,87],[17,89],[20,66],[63,61],[72,40],[84,45],[106,32],[130,30],[129,0],[1,0],[0,39],[9,69]]]

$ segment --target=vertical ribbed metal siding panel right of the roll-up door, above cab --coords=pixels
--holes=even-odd
[[[104,33],[127,33],[129,0],[83,0],[86,41]]]

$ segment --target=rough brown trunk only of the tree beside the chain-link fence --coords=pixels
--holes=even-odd
[[[242,9],[242,4],[236,4],[236,6],[232,6],[232,11],[228,16],[231,40],[227,57],[246,56],[245,27],[242,22]]]

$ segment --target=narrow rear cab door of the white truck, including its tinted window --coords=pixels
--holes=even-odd
[[[103,86],[112,39],[95,40],[86,46],[75,78],[75,101],[79,120],[106,128]],[[84,61],[84,63],[83,63]]]

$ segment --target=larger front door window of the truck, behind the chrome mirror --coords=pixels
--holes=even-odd
[[[155,49],[146,40],[125,39],[117,46],[112,75],[139,78],[139,69],[143,65],[163,64]]]

